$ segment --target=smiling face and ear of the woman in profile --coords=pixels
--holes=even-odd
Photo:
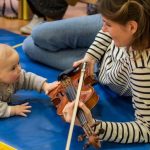
[[[128,22],[126,25],[118,24],[103,17],[103,32],[108,32],[117,47],[129,47],[133,40],[133,34],[136,32],[133,30],[134,25]]]

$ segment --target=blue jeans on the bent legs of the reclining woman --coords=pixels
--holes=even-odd
[[[46,22],[36,26],[23,42],[24,52],[33,60],[64,70],[84,57],[102,27],[100,15]]]

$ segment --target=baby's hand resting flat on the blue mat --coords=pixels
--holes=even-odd
[[[27,117],[27,113],[30,113],[31,106],[29,105],[29,103],[24,103],[21,105],[16,105],[16,106],[11,106],[11,112],[10,115],[14,116],[14,115],[18,115],[18,116],[23,116],[23,117]]]

